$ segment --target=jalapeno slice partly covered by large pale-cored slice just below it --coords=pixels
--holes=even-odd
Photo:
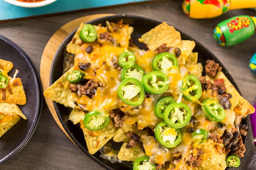
[[[145,75],[145,71],[143,70],[143,68],[141,68],[137,64],[134,64],[133,66],[131,66],[129,68],[122,69],[121,81],[123,81],[124,79],[126,79],[128,77],[132,77],[132,78],[135,78],[135,79],[138,79],[139,81],[141,81],[141,79],[144,75]]]

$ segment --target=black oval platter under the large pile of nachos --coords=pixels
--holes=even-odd
[[[88,23],[96,24],[96,25],[101,23],[102,25],[105,25],[106,20],[110,22],[118,22],[121,19],[124,20],[125,24],[130,24],[130,26],[134,27],[134,32],[132,33],[132,39],[135,41],[135,44],[139,46],[139,48],[141,49],[145,49],[145,46],[137,41],[138,38],[140,38],[142,34],[146,33],[150,29],[160,24],[160,22],[155,20],[151,20],[151,19],[143,18],[139,16],[132,16],[132,15],[112,15],[112,16],[107,16],[107,17],[96,19],[96,20],[92,20]],[[63,54],[64,54],[65,46],[67,45],[68,42],[70,42],[75,31],[76,30],[74,30],[72,33],[70,33],[70,35],[67,36],[67,38],[65,38],[65,40],[59,47],[54,57],[51,72],[50,72],[50,84],[53,84],[62,75]],[[181,32],[181,35],[182,35],[182,39],[184,40],[193,40],[191,37],[189,37],[185,33]],[[198,52],[198,55],[199,55],[198,62],[201,62],[203,65],[205,65],[205,61],[207,59],[211,59],[220,63],[218,58],[215,57],[211,52],[209,52],[204,46],[202,46],[196,40],[194,41],[196,43],[196,46],[193,51]],[[225,73],[225,75],[228,77],[231,83],[233,83],[236,89],[238,90],[238,87],[234,82],[234,79],[231,77],[227,69],[221,63],[220,65],[223,67],[222,71]],[[71,137],[74,143],[77,146],[79,146],[79,148],[81,148],[81,150],[83,150],[83,152],[89,155],[94,161],[97,161],[97,163],[99,163],[101,166],[105,167],[108,170],[132,170],[132,164],[130,162],[123,161],[121,163],[110,163],[110,161],[102,159],[100,157],[99,152],[97,152],[94,155],[90,155],[88,153],[88,149],[85,144],[83,132],[80,129],[79,125],[75,126],[72,124],[71,121],[68,120],[68,116],[70,114],[71,109],[65,108],[65,106],[55,102],[54,102],[54,107],[56,109],[58,118],[60,119],[61,124],[65,128],[67,134]],[[247,117],[247,119],[245,119],[243,123],[249,126],[248,135],[244,139],[247,151],[245,153],[245,157],[241,159],[241,166],[239,168],[236,168],[236,170],[256,169],[256,163],[254,163],[254,160],[256,160],[256,150],[254,148],[253,141],[252,141],[252,129],[249,122],[249,117]],[[118,147],[119,146],[117,146],[117,148]],[[232,168],[229,168],[229,170],[231,169]]]

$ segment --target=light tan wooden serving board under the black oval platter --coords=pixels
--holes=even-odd
[[[61,42],[63,42],[63,40],[67,37],[67,35],[69,35],[72,31],[74,31],[74,29],[76,29],[81,22],[88,22],[90,20],[108,16],[108,15],[113,15],[113,14],[95,14],[95,15],[88,15],[81,18],[77,18],[63,25],[60,29],[58,29],[58,31],[56,31],[56,33],[54,33],[54,35],[52,35],[52,37],[49,39],[49,41],[45,46],[45,49],[42,54],[41,62],[40,62],[40,79],[42,82],[43,91],[45,91],[45,89],[49,87],[50,70],[51,70],[52,61]],[[61,130],[63,130],[65,135],[69,137],[69,135],[63,128],[61,121],[58,119],[58,115],[56,113],[52,100],[45,97],[45,101],[52,114],[52,117],[54,118],[58,126],[61,128]]]

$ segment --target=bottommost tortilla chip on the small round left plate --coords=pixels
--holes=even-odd
[[[0,137],[20,120],[20,116],[7,116],[0,114]]]

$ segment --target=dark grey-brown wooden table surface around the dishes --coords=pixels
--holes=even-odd
[[[176,29],[190,35],[216,55],[234,78],[243,97],[254,105],[256,76],[250,72],[248,65],[250,58],[256,53],[256,35],[235,46],[221,47],[213,39],[213,29],[222,20],[236,15],[256,16],[256,11],[233,10],[217,18],[195,20],[184,15],[181,2],[181,0],[141,2],[104,9],[11,20],[0,22],[0,34],[18,44],[29,55],[39,73],[42,53],[48,40],[61,26],[76,18],[98,13],[115,13],[166,21]],[[45,101],[37,127],[30,140],[20,152],[0,165],[0,170],[103,169],[76,147],[58,127]]]

